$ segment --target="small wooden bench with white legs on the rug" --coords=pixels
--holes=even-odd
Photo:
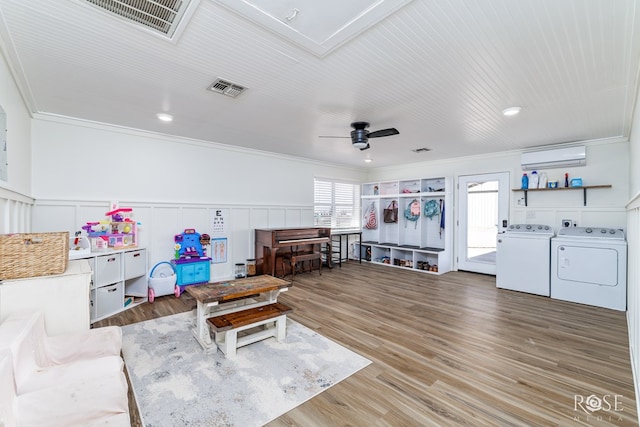
[[[233,313],[221,314],[207,319],[214,332],[218,348],[227,358],[235,357],[236,350],[254,342],[275,337],[281,341],[286,335],[287,314],[293,312],[289,306],[276,302]],[[238,332],[264,326],[261,330],[238,337]]]

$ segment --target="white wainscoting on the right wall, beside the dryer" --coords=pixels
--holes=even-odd
[[[627,329],[636,406],[640,413],[640,194],[627,205]]]

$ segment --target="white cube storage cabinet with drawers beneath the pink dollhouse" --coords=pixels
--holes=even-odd
[[[147,251],[130,248],[92,252],[91,322],[147,301]]]

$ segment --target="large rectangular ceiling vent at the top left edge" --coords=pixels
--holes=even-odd
[[[112,15],[173,39],[199,0],[86,0]],[[189,13],[187,13],[189,11]]]

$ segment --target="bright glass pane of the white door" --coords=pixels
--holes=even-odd
[[[467,259],[496,262],[498,181],[467,183]]]

